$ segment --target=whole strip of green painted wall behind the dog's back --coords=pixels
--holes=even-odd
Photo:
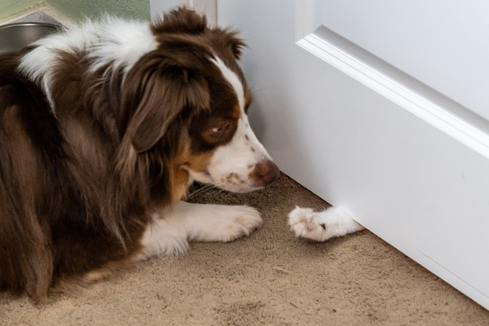
[[[85,17],[111,15],[150,19],[150,0],[0,0],[0,20],[5,20],[37,6],[46,6],[73,22]]]

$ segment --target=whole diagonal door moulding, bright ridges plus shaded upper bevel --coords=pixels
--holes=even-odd
[[[489,158],[489,121],[486,119],[324,26],[296,44]]]

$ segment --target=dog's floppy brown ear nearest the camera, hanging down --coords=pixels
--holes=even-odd
[[[128,116],[124,138],[132,141],[137,153],[153,147],[184,108],[209,107],[206,80],[170,58],[145,60],[142,67],[131,70],[124,85]]]

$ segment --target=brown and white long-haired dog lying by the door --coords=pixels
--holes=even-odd
[[[279,174],[248,124],[235,35],[178,9],[0,55],[0,290],[39,298],[261,224],[250,207],[181,202],[194,180],[246,192]]]

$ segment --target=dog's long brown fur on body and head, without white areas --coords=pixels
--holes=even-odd
[[[218,54],[245,85],[242,41],[185,9],[152,31],[159,47],[124,83],[122,71],[101,83],[108,67],[87,73],[83,51],[60,53],[54,108],[17,70],[32,48],[0,55],[0,290],[39,298],[129,262],[151,212],[187,190],[180,166],[204,171],[232,138],[236,96],[208,58]],[[222,121],[225,133],[206,134]]]

